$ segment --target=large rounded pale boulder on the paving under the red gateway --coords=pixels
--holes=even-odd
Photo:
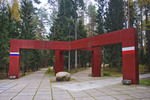
[[[68,72],[58,72],[56,74],[56,81],[70,81],[71,75]]]

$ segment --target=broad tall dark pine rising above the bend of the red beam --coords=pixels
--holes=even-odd
[[[58,14],[53,27],[55,26],[54,40],[68,41],[70,31],[70,40],[74,40],[75,15],[77,14],[77,6],[81,6],[80,1],[83,0],[58,0]],[[78,18],[78,15],[77,15]],[[51,34],[54,34],[54,28],[51,28]]]

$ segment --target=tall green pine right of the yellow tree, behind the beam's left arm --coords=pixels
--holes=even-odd
[[[34,22],[33,22],[33,14],[34,7],[32,1],[23,0],[21,2],[21,39],[35,39],[34,33]],[[36,54],[38,55],[38,54]],[[35,66],[33,62],[34,59],[34,51],[33,50],[21,50],[21,67],[22,67],[22,75],[25,75],[27,69],[32,69]]]

